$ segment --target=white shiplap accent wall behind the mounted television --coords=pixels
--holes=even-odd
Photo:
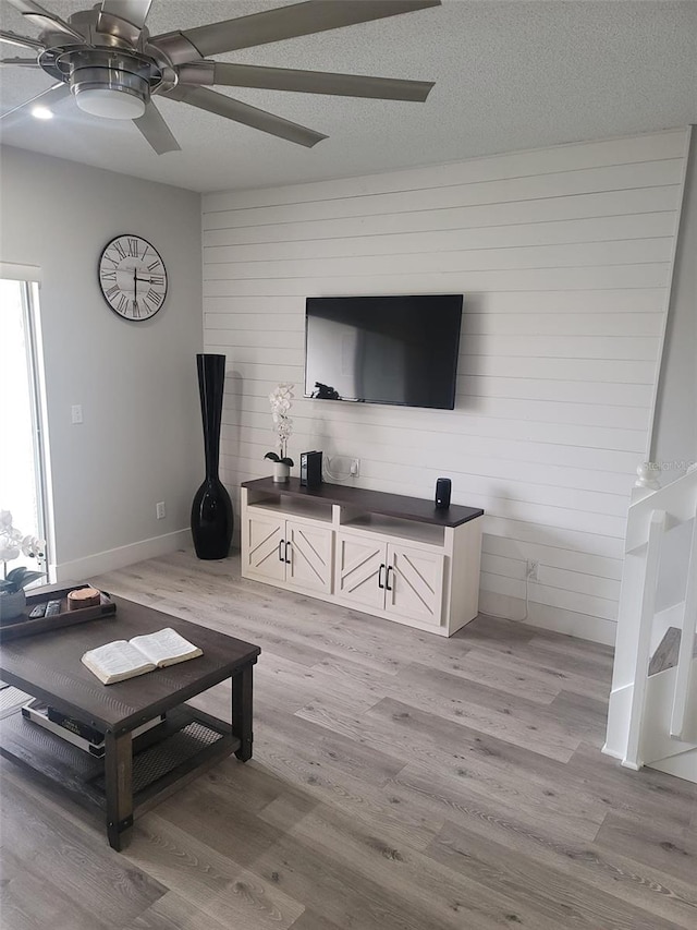
[[[454,411],[299,397],[291,454],[358,457],[357,484],[416,497],[450,476],[453,502],[487,514],[481,612],[523,616],[533,559],[529,621],[612,642],[685,141],[206,194],[204,341],[228,357],[229,487],[269,473],[269,390],[303,392],[306,297],[462,292]]]

